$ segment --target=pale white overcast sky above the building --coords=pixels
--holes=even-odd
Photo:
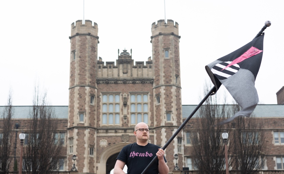
[[[250,42],[270,20],[255,86],[260,104],[277,104],[276,92],[284,86],[282,1],[165,0],[166,17],[164,0],[84,4],[83,10],[83,0],[0,1],[0,106],[7,104],[10,89],[14,106],[32,105],[35,81],[52,105],[68,105],[71,24],[83,18],[98,24],[98,56],[104,62],[115,62],[117,49],[124,48],[132,49],[134,61],[147,61],[152,23],[178,22],[183,105],[199,103],[209,80],[205,65]]]

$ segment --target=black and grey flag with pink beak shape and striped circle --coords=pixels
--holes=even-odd
[[[264,33],[251,42],[205,66],[218,90],[223,84],[241,110],[219,124],[231,122],[237,116],[249,117],[258,103],[254,82],[263,54]]]

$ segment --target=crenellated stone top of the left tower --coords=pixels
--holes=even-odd
[[[92,22],[91,20],[85,20],[85,24],[83,24],[82,20],[76,21],[76,25],[74,22],[71,24],[71,36],[75,37],[76,35],[90,35],[93,37],[98,37],[98,24],[96,22]]]

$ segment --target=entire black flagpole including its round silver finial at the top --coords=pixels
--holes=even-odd
[[[257,33],[256,37],[259,37],[260,35],[262,35],[262,32],[271,25],[270,21],[266,21],[264,23],[264,26],[262,27],[262,29]],[[256,38],[254,37],[254,39]],[[178,128],[178,130],[175,132],[175,134],[172,135],[172,137],[168,140],[168,142],[164,145],[164,147],[162,148],[163,150],[165,150],[168,145],[172,142],[172,140],[178,135],[178,133],[181,131],[181,129],[183,129],[183,127],[185,126],[185,124],[191,119],[191,117],[196,113],[196,111],[200,108],[200,106],[204,103],[204,101],[210,96],[210,95],[214,95],[217,92],[216,87],[214,86],[208,93],[207,95],[201,100],[201,102],[196,106],[196,108],[191,112],[191,114],[187,117],[187,119],[183,122],[183,124],[180,125],[180,127]],[[148,164],[148,166],[143,170],[143,172],[141,174],[144,174],[149,167],[154,163],[154,161],[157,159],[157,155],[154,157],[154,159]]]

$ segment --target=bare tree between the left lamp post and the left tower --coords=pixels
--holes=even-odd
[[[35,88],[23,160],[23,170],[27,174],[48,174],[58,170],[64,141],[58,140],[58,125],[54,118],[52,107],[47,106],[46,93],[40,97]]]

